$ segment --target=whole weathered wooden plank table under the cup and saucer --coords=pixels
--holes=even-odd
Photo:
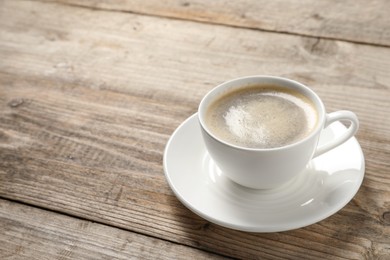
[[[390,2],[0,1],[1,259],[390,259]],[[217,84],[301,81],[349,109],[354,199],[280,233],[184,207],[162,158]]]

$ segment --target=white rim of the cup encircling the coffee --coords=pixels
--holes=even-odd
[[[290,84],[290,85],[294,85],[294,86],[298,86],[298,88],[304,90],[305,92],[309,93],[309,95],[306,95],[306,97],[308,97],[311,101],[313,101],[313,103],[315,104],[316,106],[316,110],[318,111],[318,120],[317,120],[317,123],[316,123],[316,126],[315,128],[313,129],[313,131],[311,131],[311,133],[309,135],[307,135],[305,138],[302,138],[300,140],[298,140],[297,142],[294,142],[294,143],[291,143],[291,144],[287,144],[287,145],[283,145],[283,146],[278,146],[278,147],[272,147],[272,148],[253,148],[253,147],[244,147],[244,146],[239,146],[239,145],[235,145],[235,144],[232,144],[232,143],[229,143],[225,140],[222,140],[221,138],[217,137],[216,135],[214,135],[207,127],[206,123],[204,122],[204,118],[203,118],[203,115],[205,114],[205,109],[207,108],[206,107],[206,102],[208,101],[208,99],[210,99],[210,97],[215,94],[216,92],[218,92],[221,88],[224,88],[226,86],[229,86],[235,82],[240,82],[240,81],[247,81],[247,80],[256,80],[256,79],[261,79],[261,80],[275,80],[275,81],[279,81],[281,84],[281,86],[283,87],[287,87],[286,85],[287,84]],[[287,84],[282,84],[282,83],[287,83]],[[239,83],[237,84],[239,85]],[[302,93],[303,94],[303,93]],[[315,99],[315,100],[314,100]],[[270,151],[280,151],[280,150],[285,150],[285,149],[289,149],[289,148],[292,148],[292,147],[295,147],[295,146],[298,146],[300,145],[301,143],[304,143],[306,142],[307,140],[313,138],[314,136],[318,135],[318,133],[321,131],[321,129],[323,128],[323,125],[325,123],[325,115],[326,115],[326,111],[325,111],[325,106],[322,102],[322,100],[320,99],[320,97],[312,90],[310,89],[309,87],[307,87],[306,85],[298,82],[298,81],[295,81],[295,80],[292,80],[292,79],[288,79],[288,78],[284,78],[284,77],[279,77],[279,76],[270,76],[270,75],[253,75],[253,76],[245,76],[245,77],[239,77],[239,78],[234,78],[234,79],[231,79],[231,80],[228,80],[228,81],[225,81],[219,85],[217,85],[216,87],[214,87],[213,89],[211,89],[201,100],[200,104],[199,104],[199,107],[198,107],[198,121],[202,127],[202,129],[205,131],[205,133],[207,133],[210,137],[212,137],[214,140],[226,145],[226,146],[229,146],[231,148],[234,148],[234,149],[237,149],[237,150],[242,150],[242,151],[256,151],[256,152],[270,152]]]

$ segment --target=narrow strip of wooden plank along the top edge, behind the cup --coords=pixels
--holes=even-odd
[[[50,0],[214,24],[390,46],[387,0]]]

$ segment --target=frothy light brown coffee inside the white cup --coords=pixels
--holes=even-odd
[[[216,137],[233,145],[276,148],[308,136],[317,117],[314,104],[298,91],[255,85],[214,100],[205,123]]]

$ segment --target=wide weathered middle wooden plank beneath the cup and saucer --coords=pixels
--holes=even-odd
[[[0,8],[0,197],[238,258],[390,254],[389,48],[35,1]],[[339,213],[250,234],[174,197],[170,134],[214,85],[251,74],[302,81],[329,111],[358,114],[366,177]]]

